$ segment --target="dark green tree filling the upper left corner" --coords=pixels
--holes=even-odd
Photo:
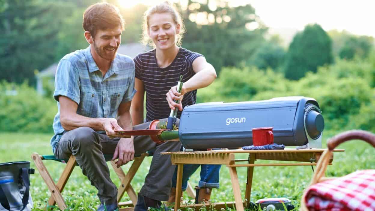
[[[35,81],[34,70],[55,61],[57,32],[66,12],[59,3],[41,0],[3,0],[0,10],[1,79]]]

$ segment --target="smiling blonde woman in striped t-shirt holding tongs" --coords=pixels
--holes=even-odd
[[[210,85],[216,71],[199,53],[181,48],[184,25],[180,14],[168,2],[148,9],[144,15],[143,42],[153,50],[138,54],[135,62],[135,89],[131,112],[133,125],[154,119],[168,118],[171,109],[178,109],[180,118],[184,106],[196,102],[196,90]],[[177,92],[177,82],[183,75],[183,87]],[[144,93],[146,93],[146,118],[143,118]],[[180,100],[176,104],[174,100]],[[199,165],[184,165],[183,190],[189,176]],[[220,165],[201,165],[198,201],[210,198],[211,188],[219,187]],[[174,202],[175,176],[172,179],[168,202]]]

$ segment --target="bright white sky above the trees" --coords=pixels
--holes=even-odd
[[[118,1],[121,6],[132,7],[137,3],[153,5],[165,0]],[[186,0],[180,1],[186,2]],[[172,2],[180,1],[172,0]],[[264,24],[274,29],[303,30],[306,24],[317,23],[326,31],[347,30],[356,35],[375,37],[375,1],[373,0],[230,0],[229,3],[233,6],[250,3],[255,8],[255,14]]]

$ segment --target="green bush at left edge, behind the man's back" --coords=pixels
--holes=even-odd
[[[39,95],[27,82],[0,83],[0,131],[51,133],[57,112],[52,98]]]

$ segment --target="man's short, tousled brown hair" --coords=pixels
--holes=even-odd
[[[91,5],[83,14],[83,29],[89,31],[93,38],[98,29],[115,29],[120,26],[122,31],[124,24],[117,7],[107,2]]]

